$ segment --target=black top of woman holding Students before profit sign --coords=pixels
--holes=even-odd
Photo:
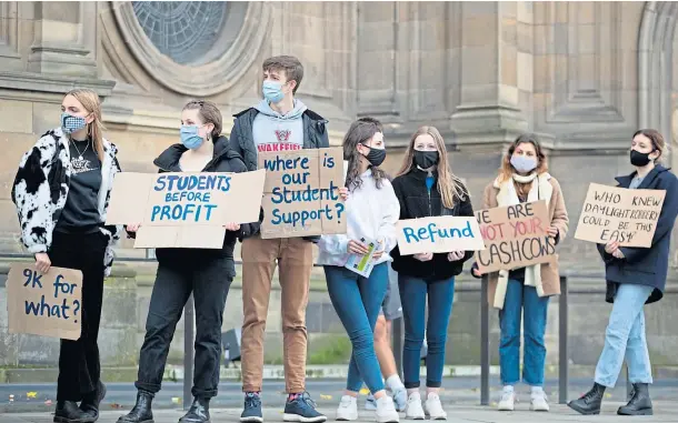
[[[183,144],[173,144],[164,150],[154,161],[153,164],[159,168],[160,173],[164,172],[181,172],[179,159],[188,149]],[[226,137],[219,137],[215,141],[215,158],[207,163],[203,172],[247,172],[247,168],[242,162],[242,158],[233,151]],[[223,246],[221,250],[216,249],[157,249],[156,255],[158,263],[168,266],[186,268],[187,263],[191,265],[203,265],[215,259],[226,260],[225,272],[233,278],[236,275],[236,266],[233,262],[233,248],[238,239],[248,238],[259,231],[259,223],[242,223],[237,232],[226,231],[223,238]]]

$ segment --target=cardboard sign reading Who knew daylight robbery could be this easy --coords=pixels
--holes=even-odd
[[[575,238],[650,248],[665,197],[665,190],[629,190],[591,183]]]

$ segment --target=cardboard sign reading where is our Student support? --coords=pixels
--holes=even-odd
[[[346,233],[341,148],[260,152],[266,169],[261,238]]]

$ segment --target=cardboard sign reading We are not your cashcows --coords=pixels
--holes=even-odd
[[[486,250],[476,253],[480,273],[511,270],[554,260],[546,201],[476,212]]]

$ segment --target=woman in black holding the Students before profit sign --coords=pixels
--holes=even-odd
[[[193,100],[181,112],[181,143],[154,161],[166,172],[246,172],[240,154],[221,135],[221,112],[211,101]],[[236,207],[236,205],[233,205]],[[134,383],[137,403],[120,423],[151,421],[151,401],[160,391],[170,342],[189,296],[196,302],[195,400],[180,422],[208,422],[209,401],[217,395],[221,357],[221,323],[230,284],[236,276],[233,249],[238,238],[257,231],[259,223],[228,223],[221,249],[157,249],[158,273],[151,294],[146,338]],[[133,238],[139,225],[128,225]]]

